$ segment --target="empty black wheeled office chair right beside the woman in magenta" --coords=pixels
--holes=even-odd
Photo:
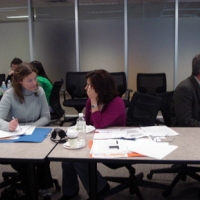
[[[152,126],[155,125],[156,116],[160,108],[161,98],[135,92],[130,106],[127,112],[127,123],[128,126]],[[142,200],[142,194],[140,193],[139,187],[149,187],[149,188],[159,188],[165,189],[167,186],[161,183],[154,183],[150,181],[143,180],[143,173],[135,175],[135,169],[132,165],[123,163],[104,163],[107,167],[111,169],[118,169],[125,167],[129,171],[129,177],[108,177],[107,181],[120,183],[116,187],[112,188],[108,193],[105,194],[104,198],[118,193],[124,189],[129,188],[130,194],[136,194],[137,197]]]

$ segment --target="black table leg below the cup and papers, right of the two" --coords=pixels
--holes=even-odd
[[[89,162],[89,195],[90,199],[97,200],[97,163]]]

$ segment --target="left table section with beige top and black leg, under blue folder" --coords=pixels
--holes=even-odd
[[[49,136],[41,143],[0,143],[0,163],[25,162],[28,164],[28,195],[30,200],[38,199],[35,163],[46,161],[47,155],[55,145],[56,143],[50,141]]]

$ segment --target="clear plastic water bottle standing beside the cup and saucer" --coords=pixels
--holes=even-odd
[[[83,113],[78,114],[76,129],[78,131],[78,143],[80,147],[84,147],[86,145],[86,122]]]

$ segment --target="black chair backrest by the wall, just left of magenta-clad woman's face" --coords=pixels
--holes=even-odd
[[[88,72],[67,72],[66,73],[66,90],[74,98],[87,98],[85,91],[86,74]]]

